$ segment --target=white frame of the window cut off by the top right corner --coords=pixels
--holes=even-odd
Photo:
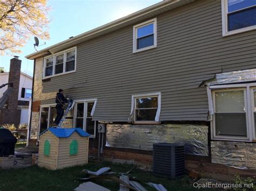
[[[223,37],[256,29],[256,25],[254,25],[254,26],[248,26],[248,27],[234,30],[234,31],[228,31],[228,19],[227,19],[228,9],[227,8],[228,8],[227,0],[221,0],[222,36]],[[244,9],[247,9],[247,8],[244,8]]]

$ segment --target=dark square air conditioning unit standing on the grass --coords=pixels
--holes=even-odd
[[[185,172],[184,145],[170,143],[153,144],[153,174],[177,178]]]

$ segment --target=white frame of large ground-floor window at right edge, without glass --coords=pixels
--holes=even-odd
[[[245,90],[245,111],[246,111],[246,125],[247,125],[247,138],[239,137],[225,137],[215,136],[215,118],[211,121],[211,138],[212,140],[233,140],[238,142],[255,142],[255,128],[254,128],[254,117],[253,117],[253,89],[256,89],[256,83],[243,83],[243,84],[225,84],[225,85],[214,85],[210,86],[211,94],[208,94],[209,105],[213,103],[213,109],[215,111],[215,98],[214,92],[217,91],[228,91],[228,90]],[[209,97],[211,95],[212,97]]]

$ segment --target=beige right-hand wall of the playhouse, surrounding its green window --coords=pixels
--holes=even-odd
[[[69,155],[69,145],[73,139],[77,140],[77,155]],[[88,137],[80,137],[73,133],[69,138],[59,138],[58,164],[57,168],[64,168],[72,165],[84,165],[88,161]]]

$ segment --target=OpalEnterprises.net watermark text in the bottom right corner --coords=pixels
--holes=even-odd
[[[218,183],[218,182],[205,182],[205,183],[199,183],[194,182],[193,183],[194,188],[253,188],[253,183]]]

